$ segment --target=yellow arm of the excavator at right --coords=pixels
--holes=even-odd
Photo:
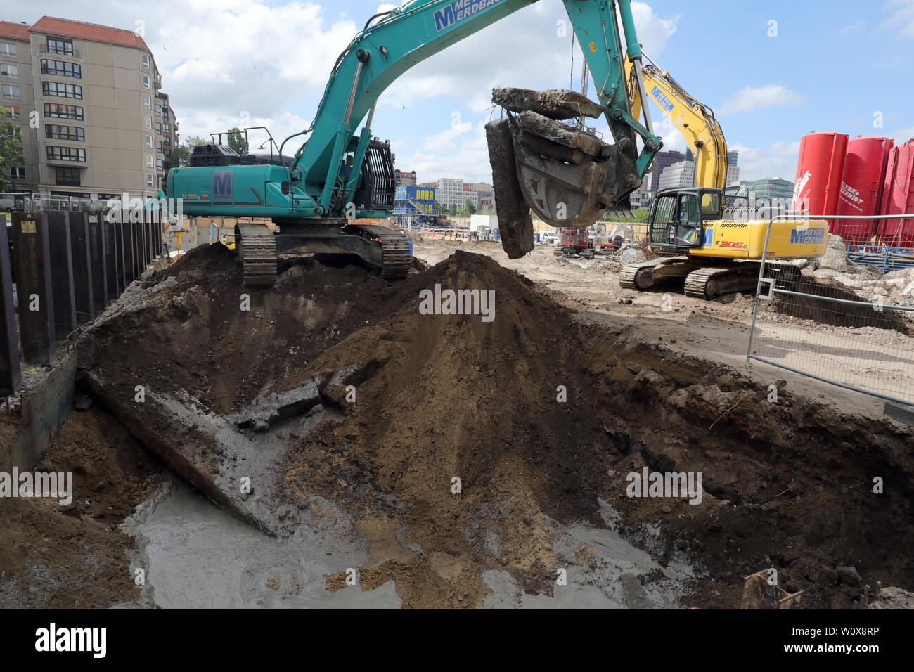
[[[727,140],[720,124],[705,103],[689,95],[670,74],[643,55],[643,91],[663,110],[679,133],[694,148],[696,171],[694,187],[723,189],[727,183]],[[625,59],[625,78],[632,116],[645,112],[639,95],[635,63]],[[650,118],[648,114],[647,119]]]

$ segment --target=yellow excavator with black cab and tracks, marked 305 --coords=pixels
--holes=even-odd
[[[755,289],[765,249],[768,219],[724,219],[728,212],[727,141],[714,112],[689,95],[670,74],[642,52],[637,69],[625,59],[626,85],[632,117],[643,115],[653,133],[650,113],[639,96],[644,91],[663,110],[694,148],[692,188],[658,193],[648,221],[648,246],[661,255],[651,261],[629,263],[619,272],[623,289],[643,291],[685,279],[685,294],[712,299],[725,293]],[[638,78],[643,78],[643,86]],[[749,212],[749,203],[743,211]],[[828,223],[824,219],[777,221],[771,227],[769,260],[814,259],[825,253]],[[789,264],[766,265],[774,277],[795,278]]]

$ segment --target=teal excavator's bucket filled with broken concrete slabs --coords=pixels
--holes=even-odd
[[[560,123],[603,108],[575,91],[495,89],[506,116],[486,124],[502,246],[517,259],[533,250],[532,209],[547,224],[589,227],[609,208],[628,209],[639,180],[620,144]]]

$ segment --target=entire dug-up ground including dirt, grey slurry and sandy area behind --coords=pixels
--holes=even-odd
[[[73,503],[0,507],[0,604],[739,608],[775,568],[807,607],[877,582],[911,606],[914,430],[747,369],[749,295],[626,292],[546,246],[414,253],[393,283],[307,257],[246,288],[218,244],[146,277],[36,467]],[[494,320],[420,315],[435,284],[496,290]],[[645,466],[702,473],[700,504],[627,496]]]

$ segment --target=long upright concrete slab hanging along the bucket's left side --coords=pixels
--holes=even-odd
[[[492,165],[492,187],[502,248],[509,259],[520,259],[533,250],[533,219],[530,207],[517,181],[514,140],[508,119],[485,124],[485,139],[489,144]]]

